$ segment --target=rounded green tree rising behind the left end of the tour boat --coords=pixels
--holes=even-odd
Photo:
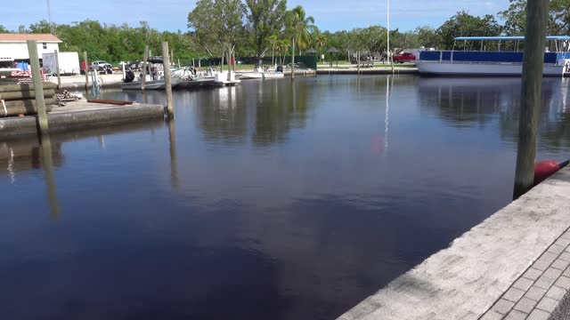
[[[476,17],[468,12],[457,12],[450,20],[437,29],[439,44],[443,49],[452,49],[457,36],[499,36],[501,26],[493,15]],[[456,48],[463,49],[464,44],[457,44]]]

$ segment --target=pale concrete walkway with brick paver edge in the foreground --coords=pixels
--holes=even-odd
[[[339,319],[566,319],[569,228],[566,167]]]

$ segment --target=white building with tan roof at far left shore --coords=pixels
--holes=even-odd
[[[61,40],[49,34],[0,34],[0,60],[29,60],[28,40],[37,41],[37,55],[60,50]]]

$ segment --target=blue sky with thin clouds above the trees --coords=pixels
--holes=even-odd
[[[47,19],[47,0],[28,0],[26,6],[6,5],[0,24],[15,30],[21,24]],[[57,23],[85,19],[101,22],[138,25],[145,20],[159,30],[186,30],[186,18],[193,8],[193,0],[50,0],[52,17]],[[157,5],[159,4],[159,5]],[[336,31],[386,25],[384,0],[289,0],[288,6],[301,4],[307,14],[313,15],[316,25],[323,30]],[[495,14],[508,7],[509,0],[419,0],[390,1],[390,26],[410,30],[418,26],[438,27],[455,12],[466,10],[471,14]],[[161,7],[159,10],[159,7]]]

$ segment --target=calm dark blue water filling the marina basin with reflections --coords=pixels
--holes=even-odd
[[[339,316],[509,203],[519,84],[251,81],[175,92],[170,125],[1,141],[0,314]],[[540,159],[570,157],[569,84]]]

